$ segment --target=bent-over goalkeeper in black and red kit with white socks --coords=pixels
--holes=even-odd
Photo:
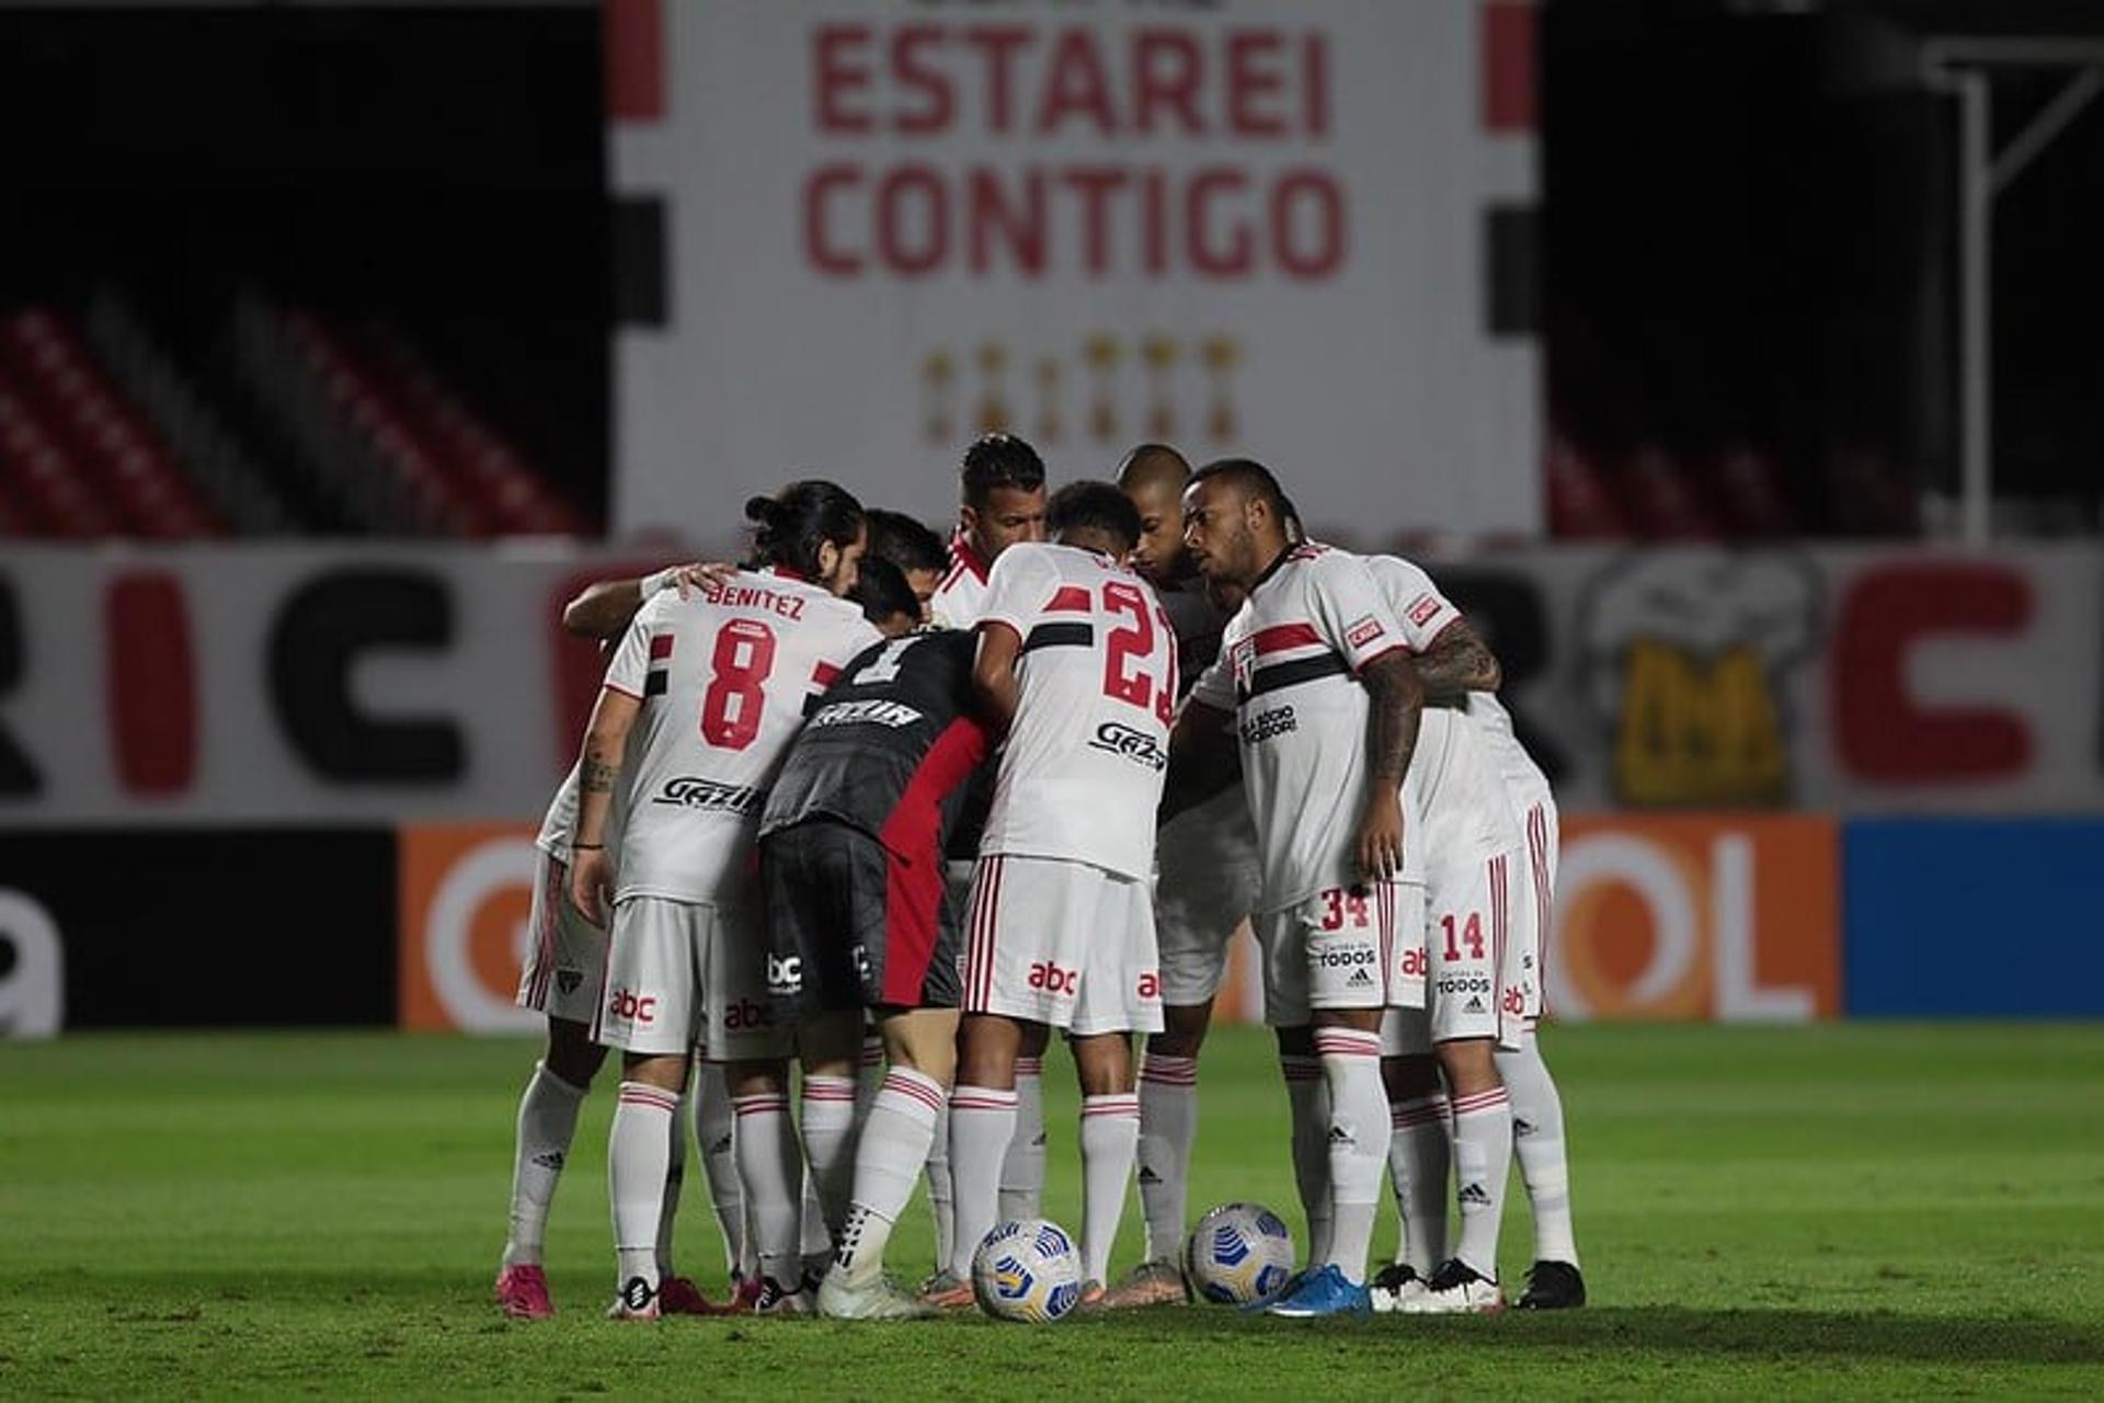
[[[806,1045],[846,1048],[869,1010],[888,1062],[852,1176],[812,1153],[839,1224],[818,1310],[839,1319],[930,1313],[884,1279],[884,1249],[955,1071],[957,902],[943,854],[970,825],[987,757],[974,652],[972,633],[926,629],[854,658],[797,734],[762,818],[772,993]]]

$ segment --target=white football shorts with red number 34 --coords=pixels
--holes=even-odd
[[[1363,881],[1250,917],[1265,959],[1265,1022],[1298,1029],[1319,1008],[1424,1003],[1424,888]]]

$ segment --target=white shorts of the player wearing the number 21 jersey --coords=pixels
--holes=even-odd
[[[964,913],[964,1012],[1077,1037],[1159,1033],[1147,883],[1065,858],[980,856]]]

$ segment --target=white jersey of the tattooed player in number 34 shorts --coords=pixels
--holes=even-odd
[[[1361,879],[1368,696],[1359,669],[1405,648],[1365,562],[1296,545],[1227,623],[1220,660],[1193,700],[1235,717],[1241,787],[1256,820],[1265,888],[1258,911]],[[1403,881],[1424,881],[1418,816],[1403,787]]]

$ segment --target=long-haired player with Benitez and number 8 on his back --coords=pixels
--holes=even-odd
[[[627,1319],[661,1310],[661,1191],[696,1050],[730,1062],[734,1151],[762,1277],[753,1308],[810,1308],[797,1260],[789,1029],[768,1003],[747,869],[762,787],[806,700],[877,633],[842,597],[865,549],[854,496],[795,482],[755,496],[747,517],[757,534],[745,570],[688,599],[661,593],[638,612],[579,761],[570,900],[593,926],[612,921],[593,1039],[623,1050],[608,1191],[621,1281],[610,1315]],[[616,804],[619,869],[606,852]]]

